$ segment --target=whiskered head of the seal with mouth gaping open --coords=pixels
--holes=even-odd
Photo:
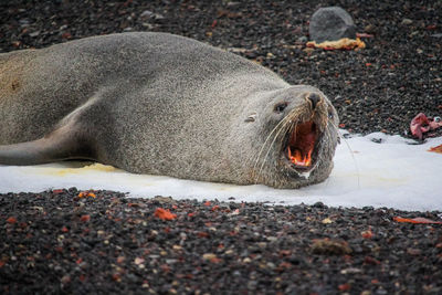
[[[254,158],[255,182],[299,188],[325,180],[339,140],[336,109],[320,91],[306,85],[273,97],[255,116],[264,135]]]

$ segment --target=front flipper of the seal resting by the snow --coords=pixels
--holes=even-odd
[[[0,146],[0,164],[36,165],[67,159],[94,159],[88,140],[78,129],[69,126],[43,138]]]

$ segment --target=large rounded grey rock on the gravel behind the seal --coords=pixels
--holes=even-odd
[[[356,27],[350,14],[340,7],[318,9],[308,28],[311,40],[316,43],[336,41],[341,38],[356,38]]]

